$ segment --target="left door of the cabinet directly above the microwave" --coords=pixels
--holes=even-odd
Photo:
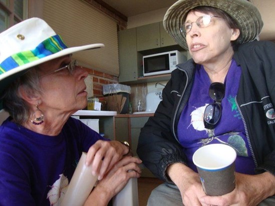
[[[137,50],[160,47],[159,22],[136,27]]]

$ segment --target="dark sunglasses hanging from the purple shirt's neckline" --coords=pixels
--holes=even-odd
[[[214,100],[205,107],[203,114],[204,127],[207,129],[214,129],[221,116],[221,100],[224,97],[224,84],[220,82],[213,82],[209,86],[209,96]]]

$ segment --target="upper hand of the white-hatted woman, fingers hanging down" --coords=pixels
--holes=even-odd
[[[98,174],[100,180],[128,150],[129,148],[119,141],[98,140],[89,148],[85,164],[92,163],[93,175]]]

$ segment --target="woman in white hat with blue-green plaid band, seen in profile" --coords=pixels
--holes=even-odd
[[[0,33],[0,104],[10,113],[0,126],[0,205],[59,205],[83,151],[99,179],[86,205],[107,205],[140,176],[129,145],[70,117],[87,105],[88,75],[71,54],[103,46],[68,48],[40,18]]]

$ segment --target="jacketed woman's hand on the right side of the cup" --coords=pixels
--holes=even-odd
[[[275,194],[275,176],[269,172],[257,175],[237,173],[236,186],[221,196],[203,196],[200,201],[208,205],[257,205]]]

